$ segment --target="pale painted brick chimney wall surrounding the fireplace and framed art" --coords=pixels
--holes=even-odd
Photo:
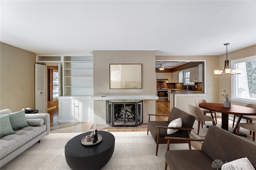
[[[93,93],[94,96],[152,96],[156,94],[155,51],[94,50]],[[110,64],[142,64],[142,89],[110,89]],[[155,100],[143,101],[143,122],[147,114],[155,114]],[[106,123],[106,101],[94,100],[97,124]]]

